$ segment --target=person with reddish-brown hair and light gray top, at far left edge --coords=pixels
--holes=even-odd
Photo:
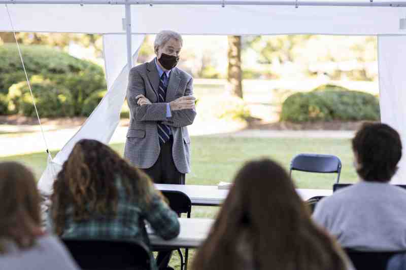
[[[41,228],[40,195],[31,171],[0,163],[0,269],[78,269],[62,244]]]

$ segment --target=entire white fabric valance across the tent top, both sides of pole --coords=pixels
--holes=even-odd
[[[160,2],[170,3],[170,0]],[[300,1],[298,3],[300,5]],[[132,32],[157,33],[165,28],[183,34],[406,34],[406,30],[399,29],[399,19],[406,15],[406,8],[299,6],[296,9],[293,6],[230,6],[227,1],[225,4],[224,8],[221,5],[132,5]],[[17,31],[125,32],[121,21],[125,17],[123,5],[18,4],[8,7]],[[6,9],[0,9],[0,31],[11,31]]]

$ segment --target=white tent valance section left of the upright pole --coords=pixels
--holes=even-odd
[[[125,33],[122,5],[7,6],[18,32]],[[0,5],[1,31],[12,31],[5,5]]]

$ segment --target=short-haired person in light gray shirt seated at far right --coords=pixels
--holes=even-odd
[[[352,149],[360,180],[321,200],[315,221],[345,248],[405,250],[406,190],[389,184],[402,155],[399,134],[386,124],[365,123],[355,134]]]

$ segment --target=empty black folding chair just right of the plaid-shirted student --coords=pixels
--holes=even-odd
[[[183,213],[187,214],[187,218],[190,218],[190,213],[192,212],[192,202],[189,196],[184,194],[182,191],[177,190],[161,190],[162,195],[166,197],[169,201],[169,206],[172,210],[181,215]],[[177,249],[179,256],[181,258],[181,269],[187,270],[187,262],[189,249],[185,248],[185,259],[183,259],[182,251],[180,248]]]

